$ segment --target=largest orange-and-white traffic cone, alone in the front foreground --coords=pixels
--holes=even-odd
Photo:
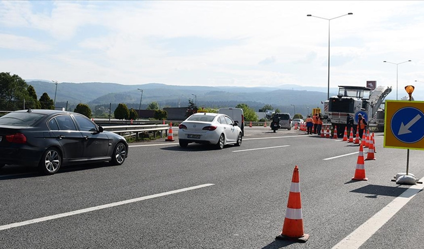
[[[300,179],[297,165],[293,170],[290,192],[288,194],[287,209],[283,223],[283,232],[276,240],[293,240],[305,243],[309,234],[303,233],[302,203],[300,200]]]

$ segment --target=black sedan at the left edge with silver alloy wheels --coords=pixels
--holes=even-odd
[[[0,168],[38,166],[45,174],[62,165],[109,161],[128,156],[125,138],[104,131],[84,115],[60,110],[18,110],[0,117]]]

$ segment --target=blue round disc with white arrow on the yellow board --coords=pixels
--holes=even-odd
[[[390,121],[393,136],[406,143],[414,143],[424,138],[424,113],[415,107],[397,110]]]

